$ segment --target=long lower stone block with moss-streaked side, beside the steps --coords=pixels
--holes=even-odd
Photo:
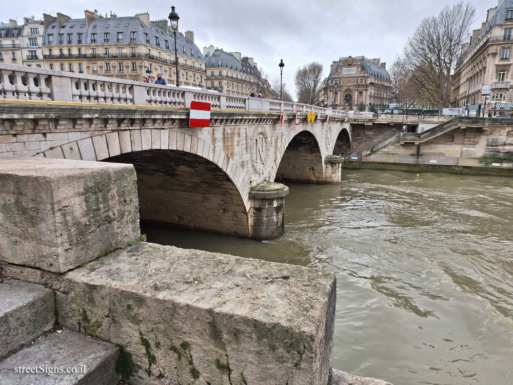
[[[142,243],[66,273],[56,303],[131,354],[134,385],[326,385],[335,297],[330,273]]]

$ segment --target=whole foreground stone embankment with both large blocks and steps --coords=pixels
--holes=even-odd
[[[133,166],[6,159],[0,185],[0,383],[387,384],[332,370],[333,274],[144,242]]]

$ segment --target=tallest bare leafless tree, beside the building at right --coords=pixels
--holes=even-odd
[[[419,99],[440,110],[449,105],[450,75],[475,14],[469,3],[445,6],[438,16],[424,18],[403,49],[405,78],[415,85]]]

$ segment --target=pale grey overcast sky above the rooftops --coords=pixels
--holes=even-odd
[[[390,66],[422,19],[438,14],[456,0],[0,0],[7,22],[23,16],[42,18],[43,12],[84,17],[84,9],[105,15],[130,16],[148,11],[151,20],[167,18],[171,5],[180,16],[180,31],[192,30],[203,50],[212,44],[254,58],[269,75],[280,78],[278,63],[285,63],[283,81],[295,95],[295,70],[311,61],[329,66],[340,56],[379,57]],[[497,0],[469,0],[476,7],[473,28],[481,26],[486,10]]]

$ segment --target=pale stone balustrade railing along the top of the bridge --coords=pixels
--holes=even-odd
[[[250,98],[194,89],[143,83],[132,80],[55,71],[44,68],[0,64],[2,99],[62,101],[137,106],[190,107],[191,101],[210,103],[212,110],[308,113],[314,111],[333,118],[376,119],[370,112],[345,112],[302,103]]]

